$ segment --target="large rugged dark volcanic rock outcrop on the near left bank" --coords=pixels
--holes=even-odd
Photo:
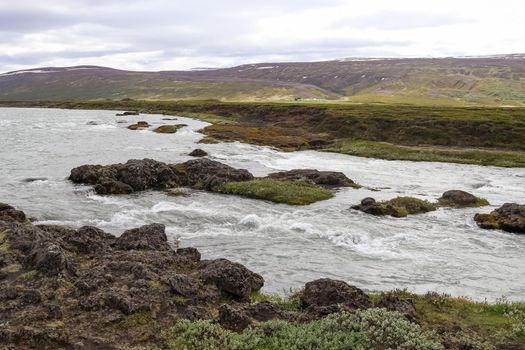
[[[224,304],[248,318],[275,314],[248,312],[259,275],[227,260],[200,262],[194,248],[175,252],[163,225],[116,238],[89,226],[0,220],[0,247],[0,343],[8,349],[134,348],[178,319],[225,317]]]

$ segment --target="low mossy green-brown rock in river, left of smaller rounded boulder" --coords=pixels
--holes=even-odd
[[[426,200],[414,197],[396,197],[383,202],[377,202],[374,198],[367,197],[360,204],[352,206],[352,209],[376,216],[390,215],[400,218],[407,215],[427,213],[437,208]]]

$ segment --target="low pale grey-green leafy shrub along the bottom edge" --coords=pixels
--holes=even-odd
[[[400,313],[368,309],[341,311],[321,320],[293,323],[269,321],[241,333],[211,321],[178,321],[164,333],[168,349],[200,350],[442,350],[433,334]]]

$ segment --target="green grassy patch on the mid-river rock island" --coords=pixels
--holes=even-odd
[[[213,191],[290,205],[307,205],[333,197],[330,190],[303,180],[257,179],[227,182]]]

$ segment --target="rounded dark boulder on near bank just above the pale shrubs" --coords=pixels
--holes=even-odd
[[[301,303],[305,308],[341,304],[350,310],[366,309],[372,305],[368,295],[361,289],[329,278],[306,283]]]

